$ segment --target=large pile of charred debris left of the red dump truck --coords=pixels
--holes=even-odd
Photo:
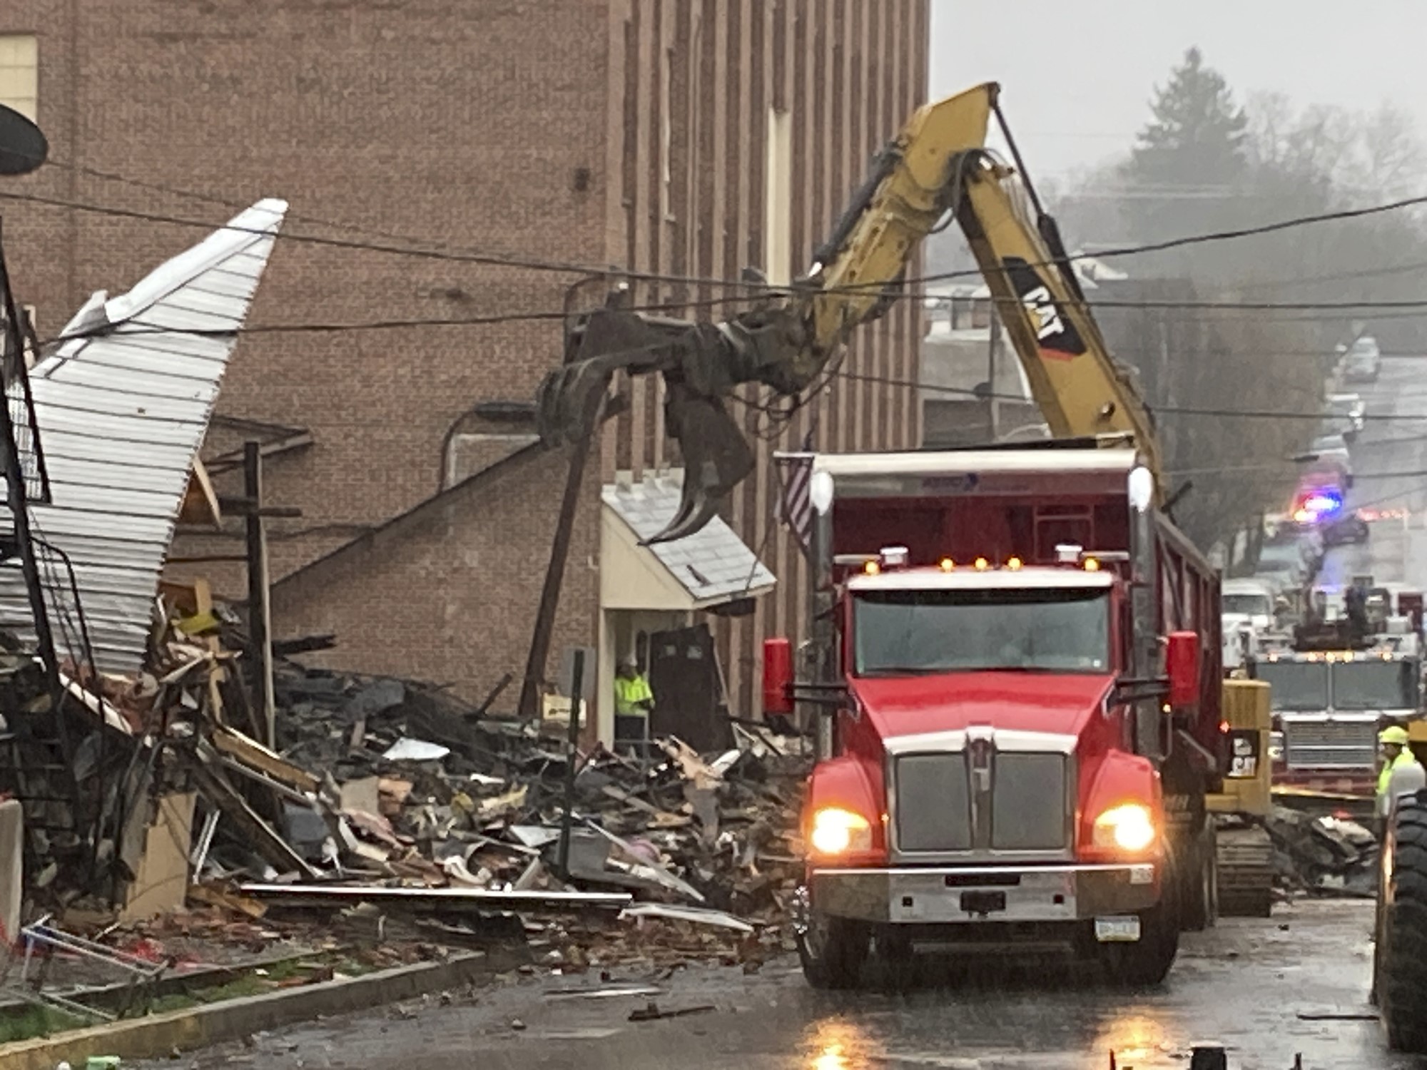
[[[103,700],[84,693],[90,730],[127,770],[104,783],[130,816],[103,872],[130,917],[187,900],[250,919],[367,909],[471,929],[514,910],[539,957],[577,969],[756,969],[783,946],[802,739],[733,723],[736,746],[716,755],[675,738],[642,758],[595,746],[575,753],[571,779],[558,696],[525,722],[428,683],[283,658],[265,725],[237,619],[191,603],[168,616],[150,672],[104,679]],[[101,886],[54,893],[91,907],[81,892]]]

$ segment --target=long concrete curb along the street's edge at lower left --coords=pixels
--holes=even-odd
[[[0,1070],[54,1070],[60,1061],[84,1066],[90,1056],[121,1059],[167,1057],[263,1030],[345,1014],[454,989],[502,969],[484,953],[457,954],[441,963],[380,970],[361,977],[320,982],[301,989],[247,996],[204,1007],[174,1010],[143,1019],[108,1021],[51,1037],[0,1046]]]

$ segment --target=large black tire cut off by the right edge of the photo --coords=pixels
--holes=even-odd
[[[1384,849],[1391,876],[1377,893],[1378,1012],[1393,1050],[1427,1054],[1427,792],[1398,800]]]

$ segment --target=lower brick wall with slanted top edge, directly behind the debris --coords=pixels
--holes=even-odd
[[[525,454],[273,589],[281,635],[337,632],[323,663],[452,683],[477,700],[505,672],[514,710],[529,651],[565,454]],[[599,492],[589,472],[565,566],[551,665],[588,645],[598,599]]]

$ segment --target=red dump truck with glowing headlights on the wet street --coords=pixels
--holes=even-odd
[[[803,457],[816,709],[803,970],[1049,947],[1154,983],[1213,895],[1219,578],[1132,447]],[[1240,759],[1243,756],[1240,755]]]

